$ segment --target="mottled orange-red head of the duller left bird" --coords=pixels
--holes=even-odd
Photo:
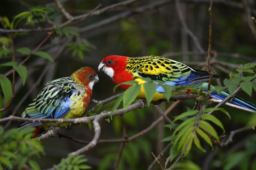
[[[93,85],[99,82],[99,77],[96,72],[90,67],[82,67],[75,71],[71,77],[73,77],[79,85],[88,86],[93,89]]]

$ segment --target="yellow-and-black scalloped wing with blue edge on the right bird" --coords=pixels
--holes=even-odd
[[[129,58],[126,71],[133,76],[149,77],[152,80],[163,81],[166,85],[190,85],[209,80],[207,71],[199,71],[172,59],[158,56]],[[215,75],[214,78],[218,76]],[[160,86],[158,92],[164,92]]]

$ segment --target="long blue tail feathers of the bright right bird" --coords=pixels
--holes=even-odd
[[[228,92],[226,91],[221,91],[220,94],[217,94],[216,92],[211,93],[210,96],[214,99],[219,99],[219,100],[223,100],[225,99],[227,96],[229,95]],[[228,101],[229,103],[233,104],[233,105],[237,105],[237,106],[241,106],[243,108],[247,108],[253,111],[256,111],[256,105],[247,102],[244,99],[241,99],[240,97],[234,96],[232,99],[230,99],[230,101]]]

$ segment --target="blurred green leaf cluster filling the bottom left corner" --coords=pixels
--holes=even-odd
[[[22,169],[24,165],[32,169],[40,170],[35,161],[44,154],[44,149],[36,139],[31,139],[33,127],[18,131],[17,128],[5,131],[0,126],[0,170],[9,167],[10,169]]]

